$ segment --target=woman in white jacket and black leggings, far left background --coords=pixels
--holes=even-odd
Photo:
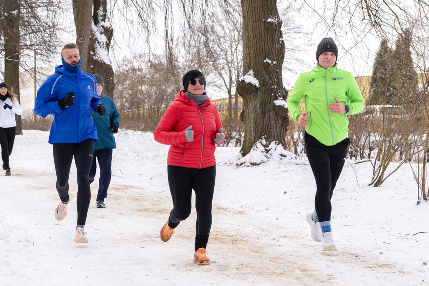
[[[3,107],[0,107],[0,146],[2,147],[3,170],[6,170],[6,176],[11,176],[9,156],[14,148],[17,131],[15,114],[21,115],[22,109],[17,95],[8,91],[6,82],[0,83],[0,105]]]

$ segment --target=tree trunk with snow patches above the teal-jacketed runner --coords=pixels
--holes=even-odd
[[[92,21],[86,72],[101,75],[104,80],[103,93],[113,98],[115,82],[109,58],[113,28],[107,14],[107,0],[94,0]]]

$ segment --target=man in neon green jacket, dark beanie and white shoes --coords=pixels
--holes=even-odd
[[[338,48],[332,38],[317,47],[318,64],[302,73],[288,97],[292,118],[306,127],[305,147],[316,180],[315,210],[307,215],[311,236],[324,250],[336,250],[331,230],[331,198],[350,139],[347,115],[363,110],[365,100],[353,75],[337,69]],[[305,112],[300,110],[304,98]]]

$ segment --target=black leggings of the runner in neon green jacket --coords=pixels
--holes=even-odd
[[[344,167],[350,139],[345,138],[334,146],[326,146],[307,132],[304,138],[307,157],[316,180],[316,213],[320,222],[329,221],[332,194]]]

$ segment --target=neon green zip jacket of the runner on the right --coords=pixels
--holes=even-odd
[[[349,133],[347,115],[328,109],[335,97],[349,106],[347,115],[359,113],[365,107],[365,100],[350,72],[337,69],[337,64],[327,69],[317,64],[312,71],[301,73],[287,100],[289,113],[298,122],[302,113],[300,102],[304,98],[305,111],[310,111],[306,115],[309,118],[306,132],[326,146],[337,144]]]

